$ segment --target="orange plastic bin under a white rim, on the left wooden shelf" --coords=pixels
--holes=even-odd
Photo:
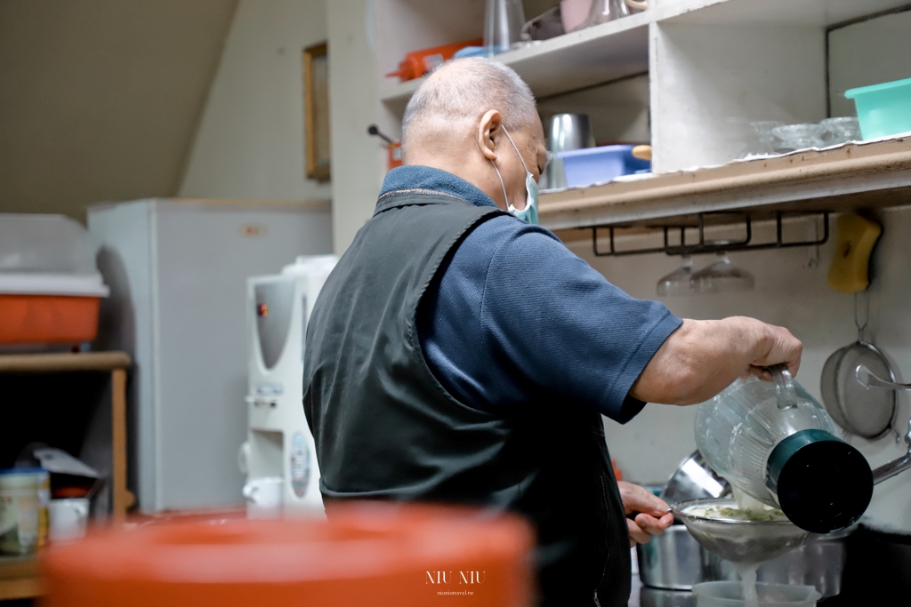
[[[0,344],[95,339],[101,298],[0,294]]]

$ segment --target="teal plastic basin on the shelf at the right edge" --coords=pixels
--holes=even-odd
[[[851,88],[844,96],[855,100],[865,140],[911,131],[911,78]]]

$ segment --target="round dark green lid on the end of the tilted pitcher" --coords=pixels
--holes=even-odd
[[[859,450],[824,430],[801,430],[769,456],[766,485],[784,514],[813,533],[854,524],[873,498],[873,472]]]

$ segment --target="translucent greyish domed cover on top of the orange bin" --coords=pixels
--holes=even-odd
[[[0,213],[0,272],[94,274],[96,247],[63,215]]]

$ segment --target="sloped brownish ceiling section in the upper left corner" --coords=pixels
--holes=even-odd
[[[0,0],[0,211],[173,196],[237,0]]]

